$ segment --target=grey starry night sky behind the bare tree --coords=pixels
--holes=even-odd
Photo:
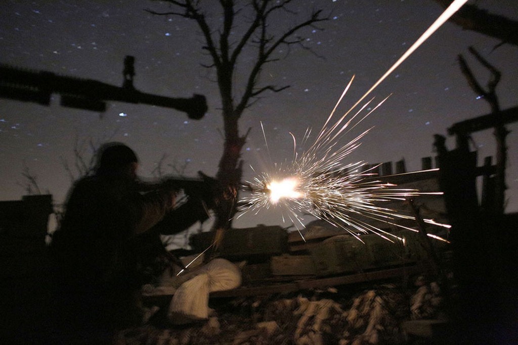
[[[432,0],[300,3],[304,4],[299,8],[301,16],[321,7],[330,13],[330,20],[319,25],[323,31],[308,28],[300,32],[308,37],[306,45],[314,54],[293,48],[289,56],[264,70],[264,83],[291,87],[279,94],[264,94],[243,114],[242,133],[252,128],[242,155],[244,179],[252,176],[249,164],[256,170],[269,167],[263,165],[268,153],[261,122],[272,160],[290,159],[293,141],[289,132],[300,141],[307,127],[318,131],[355,75],[339,108],[347,110],[442,12]],[[513,0],[480,0],[476,4],[518,20]],[[75,143],[89,157],[89,141],[130,145],[140,158],[140,175],[145,177],[152,176],[164,154],[166,173],[174,173],[169,166],[186,176],[196,176],[198,170],[216,173],[223,147],[217,84],[213,72],[201,65],[210,61],[200,49],[202,38],[195,23],[153,16],[144,10],[167,10],[167,6],[147,0],[1,2],[0,63],[122,86],[124,56],[133,55],[134,85],[139,91],[169,97],[204,94],[209,111],[195,121],[185,113],[146,104],[112,102],[99,114],[61,107],[59,95],[54,95],[50,107],[0,99],[0,200],[21,198],[24,188],[20,184],[26,183],[22,172],[28,167],[42,191],[52,193],[56,203],[63,202],[71,184],[63,161],[74,163]],[[220,19],[217,12],[212,17],[215,22]],[[291,21],[286,16],[271,25],[282,29]],[[498,43],[451,23],[443,25],[371,94],[379,100],[392,96],[359,126],[356,134],[375,128],[351,160],[378,163],[404,158],[407,170],[419,170],[422,157],[435,155],[434,134],[447,135],[454,123],[489,113],[488,103],[469,88],[456,61],[457,54],[464,54],[478,80],[486,85],[489,73],[469,54],[469,46],[502,72],[497,88],[501,109],[518,105],[518,47],[504,44],[494,50]],[[285,53],[279,51],[277,56]],[[243,70],[252,58],[244,56]],[[518,126],[512,124],[508,129],[512,131],[507,170],[510,212],[518,210]],[[495,154],[492,130],[474,134],[473,139],[480,165],[485,156]],[[454,148],[453,138],[447,144]],[[234,226],[257,223],[279,224],[280,219],[269,213],[247,215]]]

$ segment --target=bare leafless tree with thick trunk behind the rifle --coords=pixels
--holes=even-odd
[[[215,70],[224,123],[224,148],[217,173],[218,203],[214,210],[216,219],[213,229],[228,229],[237,212],[237,191],[242,175],[241,149],[246,142],[247,133],[239,133],[238,121],[243,112],[266,91],[280,92],[288,86],[261,84],[260,76],[266,64],[278,61],[275,53],[281,46],[299,45],[305,49],[305,39],[297,36],[301,29],[315,27],[326,20],[321,10],[313,10],[305,19],[275,30],[276,25],[268,25],[275,16],[286,14],[295,17],[291,8],[292,0],[220,0],[222,21],[218,27],[211,27],[210,10],[196,0],[167,0],[167,11],[148,12],[161,16],[178,16],[196,22],[204,39],[203,49],[208,52],[212,64],[205,66]],[[211,3],[214,5],[216,2]],[[239,6],[236,5],[239,3]],[[207,4],[207,3],[205,3]],[[281,17],[282,18],[282,17]],[[214,23],[217,21],[214,21]],[[279,24],[279,23],[277,23]],[[212,24],[215,25],[215,24]],[[236,29],[239,26],[239,30]],[[279,26],[279,25],[277,25]],[[241,33],[238,35],[237,33]],[[242,83],[236,81],[236,68],[247,49],[254,49],[255,58],[248,73],[240,73]],[[241,79],[241,78],[240,78]],[[240,91],[239,96],[237,91]],[[250,129],[249,129],[250,130]]]

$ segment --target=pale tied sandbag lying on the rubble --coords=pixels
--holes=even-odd
[[[209,317],[209,293],[231,290],[241,285],[241,271],[232,262],[214,259],[197,271],[176,290],[168,310],[174,324],[183,324]]]

